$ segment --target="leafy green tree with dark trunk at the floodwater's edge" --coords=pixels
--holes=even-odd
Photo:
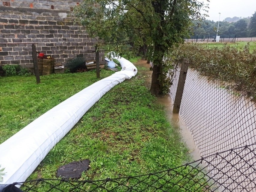
[[[74,13],[76,22],[105,42],[126,34],[131,41],[151,45],[154,67],[150,90],[159,95],[168,87],[163,58],[184,42],[193,20],[204,19],[200,11],[206,8],[198,0],[86,0]]]

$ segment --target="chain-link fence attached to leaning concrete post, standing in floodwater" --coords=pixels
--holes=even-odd
[[[175,71],[170,90],[173,101],[179,73],[180,67]],[[210,80],[191,68],[187,71],[180,116],[203,156],[255,143],[256,102],[233,87],[232,82]],[[239,162],[239,158],[232,156],[226,157],[226,160],[230,162],[231,167],[242,163]],[[244,166],[254,167],[256,160],[254,154],[246,155],[244,160]],[[247,184],[254,186],[254,182],[242,182],[244,173],[239,169],[237,171],[229,169],[230,166],[218,160],[211,164],[225,170],[227,178],[232,178],[234,174],[240,175],[241,186]],[[255,176],[255,168],[248,170],[247,174],[251,173]],[[232,182],[227,180],[224,183]]]

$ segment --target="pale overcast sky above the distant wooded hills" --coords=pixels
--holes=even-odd
[[[209,4],[209,17],[206,19],[218,21],[219,13],[221,13],[220,20],[226,17],[248,17],[252,16],[256,11],[256,0],[202,0]]]

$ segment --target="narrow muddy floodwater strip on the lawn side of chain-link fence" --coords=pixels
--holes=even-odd
[[[149,64],[147,61],[139,60],[135,63],[135,66],[139,67],[146,67],[149,69]],[[150,88],[151,85],[151,75],[152,71],[150,70],[139,70],[142,73],[143,78],[145,79],[146,86]],[[173,101],[169,95],[165,95],[163,97],[158,97],[156,104],[163,106],[163,109],[166,111],[166,117],[171,122],[171,125],[175,128],[175,131],[179,132],[181,135],[181,140],[183,143],[187,145],[189,149],[189,154],[193,158],[193,160],[201,159],[201,154],[195,145],[192,135],[190,134],[189,130],[187,129],[185,123],[179,116],[179,114],[173,114]]]

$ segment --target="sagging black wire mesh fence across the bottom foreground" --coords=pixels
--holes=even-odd
[[[38,179],[14,183],[21,191],[254,191],[256,144],[209,155],[192,163],[141,176],[96,181]],[[227,174],[231,173],[231,174]],[[237,174],[239,173],[239,174]]]

